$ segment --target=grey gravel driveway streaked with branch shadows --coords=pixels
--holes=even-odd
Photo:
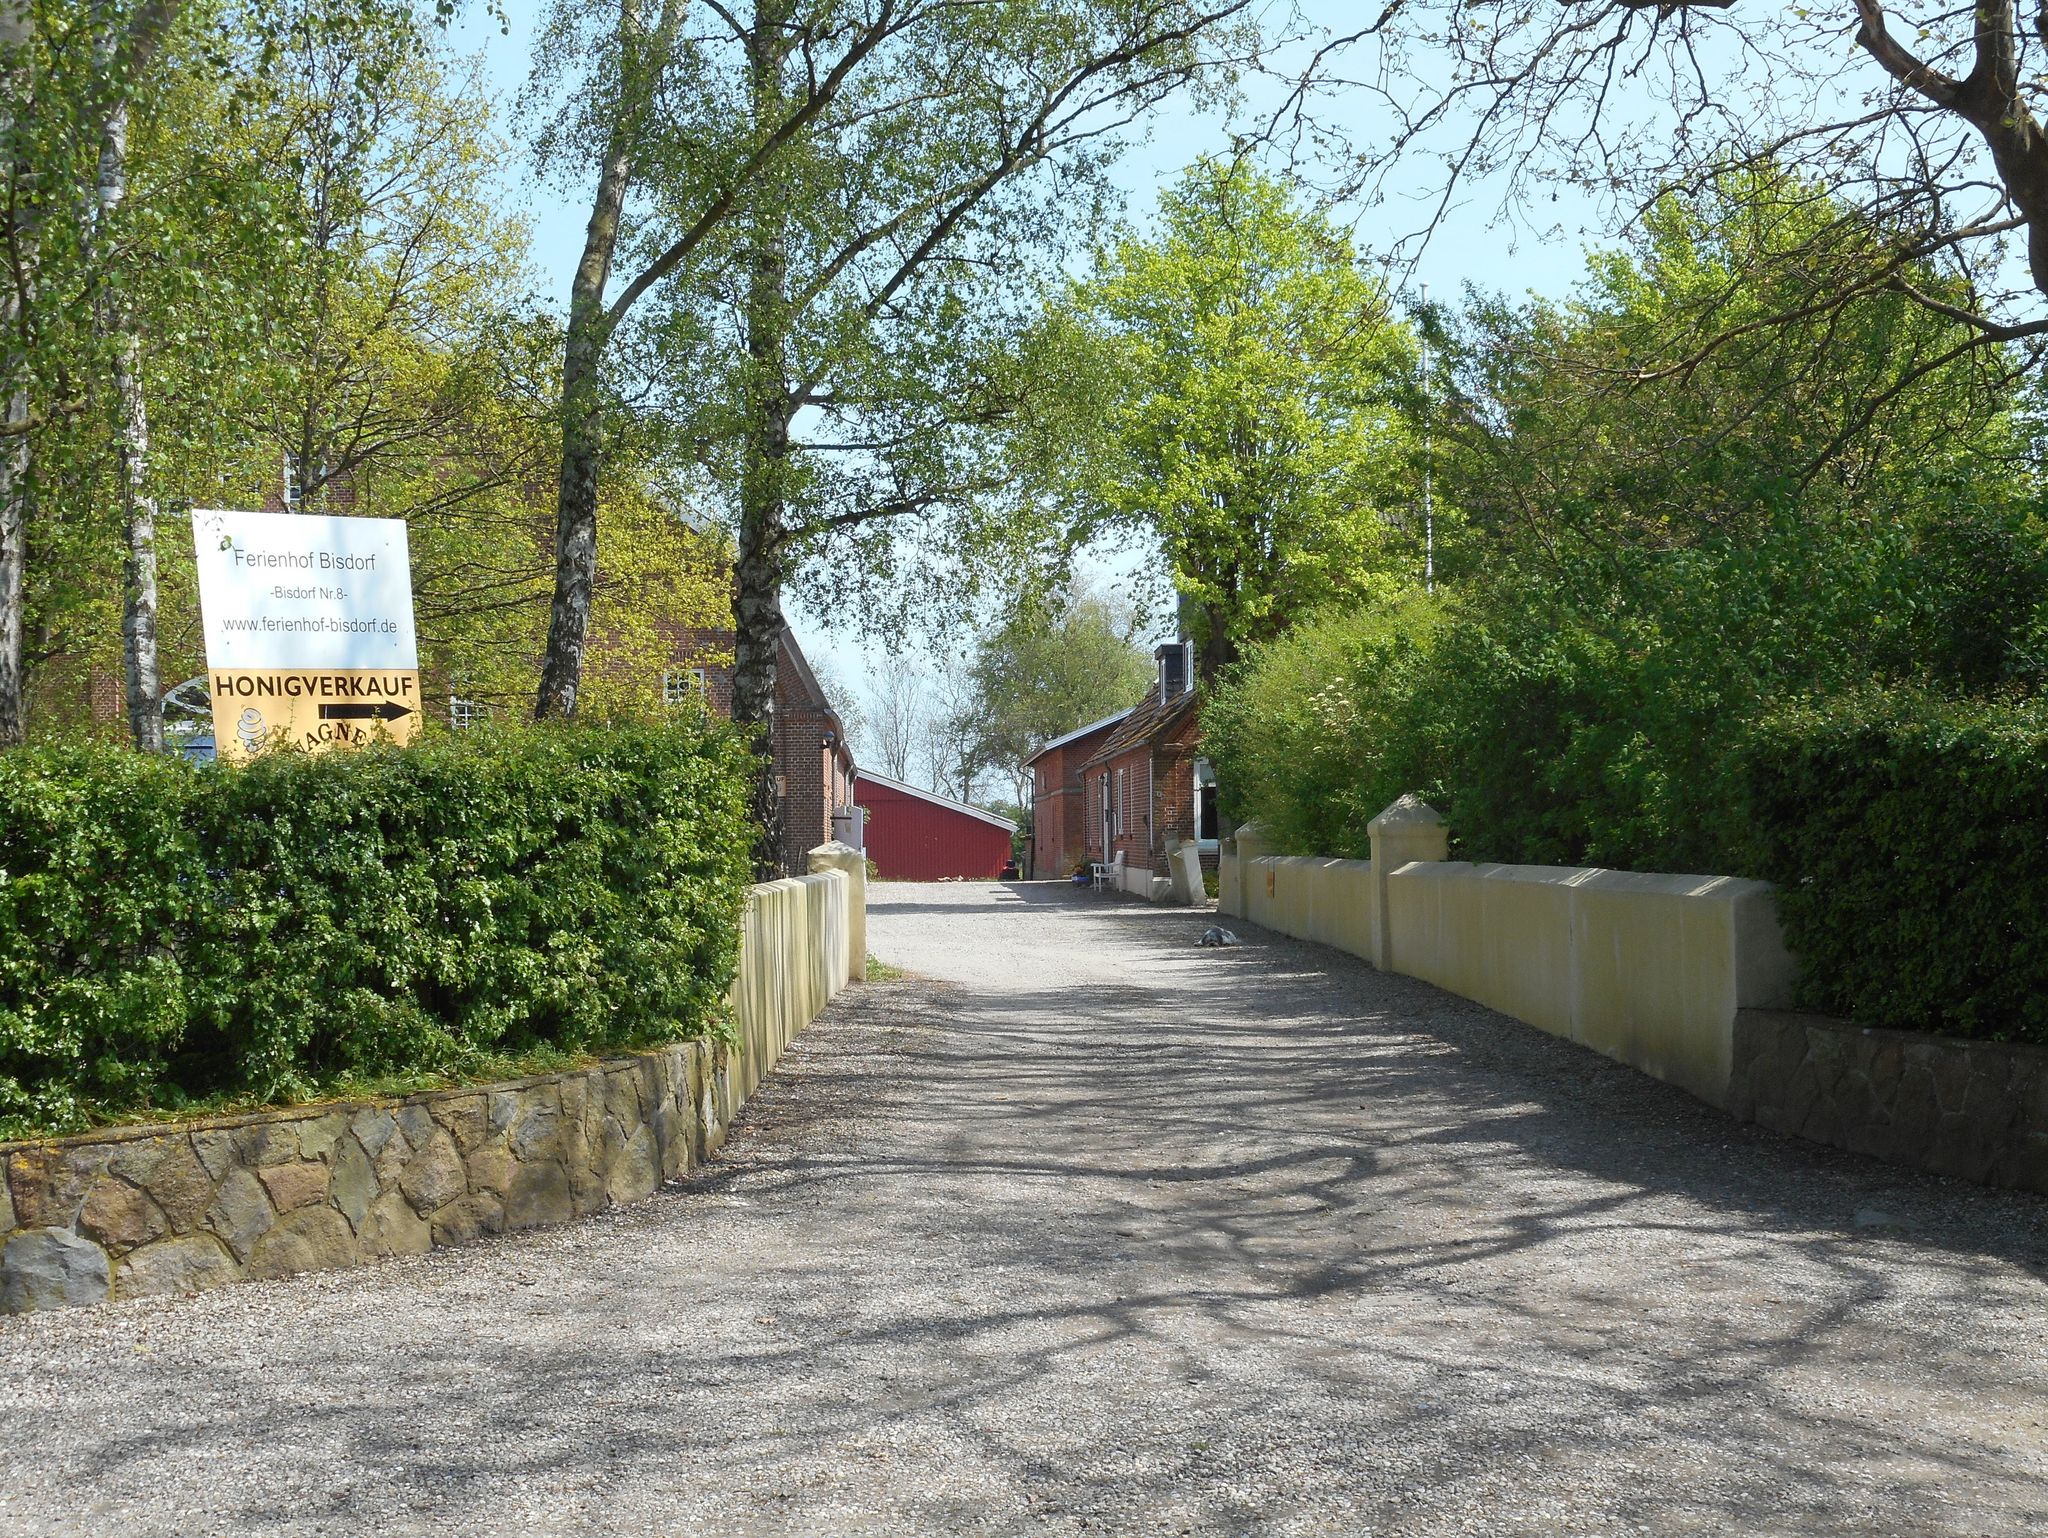
[[[0,1532],[2048,1528],[2048,1202],[1208,922],[879,887],[686,1186],[0,1321]]]

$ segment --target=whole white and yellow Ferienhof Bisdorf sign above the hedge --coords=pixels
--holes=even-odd
[[[412,741],[420,651],[401,518],[193,512],[213,752]]]

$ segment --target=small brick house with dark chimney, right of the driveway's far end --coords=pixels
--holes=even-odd
[[[1217,778],[1202,758],[1194,655],[1186,641],[1153,653],[1157,680],[1079,766],[1092,860],[1167,874],[1167,848],[1196,840],[1217,866]]]

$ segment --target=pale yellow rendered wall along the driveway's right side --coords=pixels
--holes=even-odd
[[[1239,917],[1372,960],[1368,860],[1231,856]],[[1737,1010],[1786,1008],[1769,885],[1413,860],[1386,874],[1386,969],[1726,1104]]]

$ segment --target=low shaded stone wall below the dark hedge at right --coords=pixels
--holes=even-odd
[[[1890,1163],[2048,1194],[2042,1046],[1743,1010],[1729,1110]]]

